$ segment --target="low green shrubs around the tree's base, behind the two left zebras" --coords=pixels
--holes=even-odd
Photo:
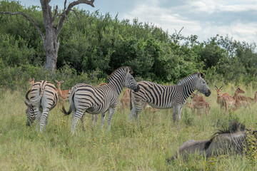
[[[92,71],[90,74],[84,72],[77,74],[74,68],[65,65],[53,73],[42,66],[5,66],[1,59],[0,73],[0,88],[10,88],[11,90],[26,90],[28,88],[29,78],[35,78],[35,81],[51,81],[54,84],[55,79],[58,81],[64,80],[61,86],[64,89],[69,89],[77,83],[90,83],[96,86],[104,82],[104,80],[99,78],[102,74],[99,70]]]

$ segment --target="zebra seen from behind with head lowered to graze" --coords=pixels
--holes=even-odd
[[[29,98],[31,93],[31,98]],[[56,87],[49,81],[38,81],[34,83],[31,90],[26,93],[25,104],[27,121],[26,125],[31,125],[36,119],[36,130],[40,132],[46,129],[47,118],[51,109],[58,101]]]

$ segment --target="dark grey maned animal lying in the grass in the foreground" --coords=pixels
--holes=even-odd
[[[175,153],[167,161],[171,162],[180,155],[183,158],[190,154],[201,155],[203,157],[211,157],[212,155],[223,154],[242,154],[243,149],[247,147],[247,133],[254,134],[256,130],[248,130],[245,126],[238,122],[232,122],[228,128],[223,128],[215,133],[211,140],[188,140],[179,147]],[[255,135],[255,134],[254,134]],[[255,135],[256,136],[256,135]]]

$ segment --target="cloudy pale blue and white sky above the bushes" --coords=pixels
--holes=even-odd
[[[24,6],[40,6],[39,0],[20,1]],[[50,4],[63,9],[64,0],[52,0]],[[79,8],[109,12],[113,17],[118,14],[119,19],[130,21],[137,18],[170,34],[184,27],[183,36],[197,35],[199,41],[219,34],[257,43],[257,0],[95,0],[94,6],[80,4]]]

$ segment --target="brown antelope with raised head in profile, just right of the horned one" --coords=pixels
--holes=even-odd
[[[242,90],[241,88],[239,88],[239,86],[238,86],[236,88],[236,91],[235,91],[235,94],[233,95],[233,97],[224,95],[221,98],[221,108],[225,108],[224,115],[226,114],[228,107],[231,107],[232,111],[235,111],[241,107],[242,103],[241,103],[241,100],[239,100],[239,98],[238,98],[239,93],[245,93],[245,91]]]

